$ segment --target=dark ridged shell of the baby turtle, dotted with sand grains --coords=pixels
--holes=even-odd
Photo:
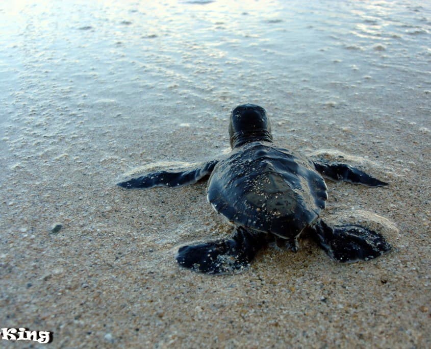
[[[238,226],[290,239],[319,217],[326,184],[309,160],[266,142],[235,148],[208,182],[208,201]]]

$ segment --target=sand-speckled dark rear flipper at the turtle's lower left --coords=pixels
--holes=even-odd
[[[176,261],[183,267],[207,274],[232,274],[247,268],[266,243],[266,234],[237,227],[230,239],[220,239],[180,248]]]

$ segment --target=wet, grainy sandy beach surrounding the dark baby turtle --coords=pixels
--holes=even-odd
[[[53,348],[431,347],[431,6],[331,4],[0,5],[0,328]],[[242,103],[277,145],[389,182],[327,181],[322,217],[393,251],[337,264],[305,238],[237,275],[180,268],[180,245],[231,233],[205,181],[116,183],[228,151]]]

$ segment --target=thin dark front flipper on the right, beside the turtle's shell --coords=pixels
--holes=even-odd
[[[313,163],[316,171],[318,171],[323,177],[334,181],[364,184],[370,187],[381,187],[388,185],[388,183],[379,181],[360,169],[347,164],[339,162],[327,162],[321,159],[318,161],[313,161]]]

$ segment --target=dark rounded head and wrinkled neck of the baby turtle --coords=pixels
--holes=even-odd
[[[231,147],[235,148],[248,142],[272,142],[271,127],[262,107],[243,104],[232,111],[229,125]]]

